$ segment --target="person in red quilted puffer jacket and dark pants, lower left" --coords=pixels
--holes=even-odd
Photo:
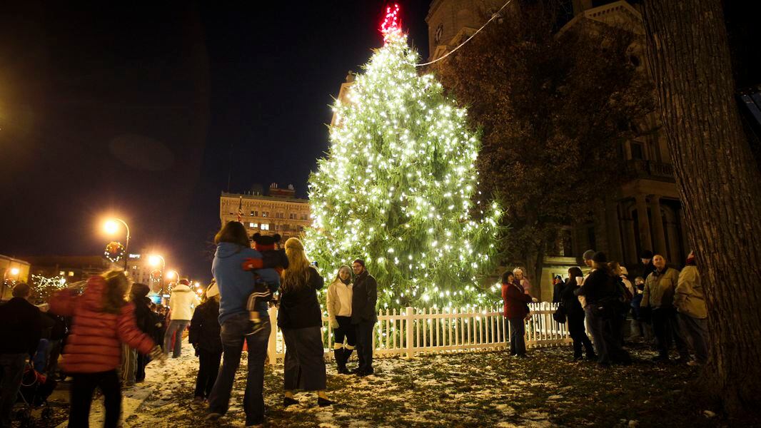
[[[109,271],[91,277],[81,296],[68,289],[50,299],[50,312],[74,318],[61,363],[74,378],[68,426],[88,426],[96,387],[103,392],[106,407],[103,426],[119,425],[122,392],[116,369],[121,365],[122,343],[154,360],[164,356],[135,324],[135,307],[125,300],[127,290],[129,280],[123,271]]]

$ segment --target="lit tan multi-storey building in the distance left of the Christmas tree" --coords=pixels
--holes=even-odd
[[[253,190],[249,193],[222,192],[219,198],[221,224],[237,221],[244,224],[249,236],[254,233],[282,236],[282,241],[298,237],[305,227],[312,224],[309,201],[296,198],[292,185],[281,189],[272,183],[266,195]]]

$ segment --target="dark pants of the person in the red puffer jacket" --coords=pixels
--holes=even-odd
[[[95,388],[103,392],[103,406],[106,418],[103,426],[111,428],[119,425],[122,413],[122,390],[116,370],[99,373],[72,373],[72,386],[69,392],[71,411],[68,414],[69,428],[90,426],[90,406]]]

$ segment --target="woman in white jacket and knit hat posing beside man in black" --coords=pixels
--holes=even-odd
[[[333,354],[336,357],[338,373],[349,374],[346,361],[357,344],[355,328],[352,325],[352,276],[349,266],[341,266],[336,279],[328,286],[326,306],[330,327],[333,328]]]

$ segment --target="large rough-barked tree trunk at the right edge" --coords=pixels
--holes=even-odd
[[[648,59],[708,303],[705,385],[761,409],[761,174],[743,134],[720,0],[646,0]]]

